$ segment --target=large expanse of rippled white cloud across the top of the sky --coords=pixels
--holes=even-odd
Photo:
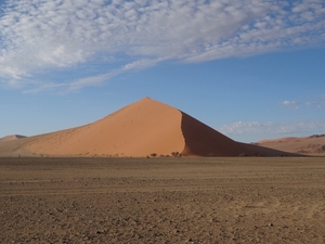
[[[325,41],[322,0],[8,0],[1,8],[0,77],[8,86],[92,62],[118,62],[127,72]],[[64,82],[77,89],[116,73]]]

